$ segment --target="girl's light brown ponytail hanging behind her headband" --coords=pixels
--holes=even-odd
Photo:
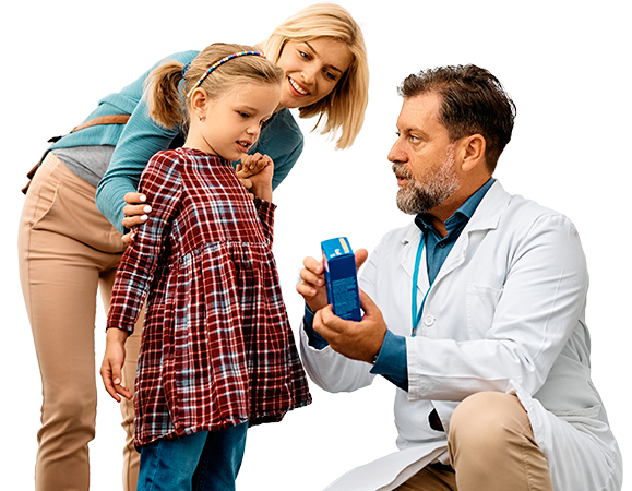
[[[186,120],[184,104],[179,91],[183,77],[182,67],[177,61],[167,61],[152,70],[146,81],[150,117],[169,130]]]

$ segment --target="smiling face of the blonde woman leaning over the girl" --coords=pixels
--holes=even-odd
[[[310,106],[331,93],[349,68],[349,48],[333,37],[287,41],[276,64],[285,72],[281,107]]]

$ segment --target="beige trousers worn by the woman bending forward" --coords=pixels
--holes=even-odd
[[[96,208],[95,191],[48,154],[20,219],[17,265],[43,392],[37,491],[90,489],[88,442],[95,436],[97,405],[97,288],[105,313],[124,250],[120,232]],[[126,345],[123,376],[131,388],[140,325]],[[139,467],[131,440],[133,403],[122,403],[121,412],[127,434],[124,490],[132,491]]]

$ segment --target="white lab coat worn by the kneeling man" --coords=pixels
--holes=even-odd
[[[397,390],[394,403],[400,452],[351,470],[331,490],[390,490],[429,462],[448,463],[445,433],[430,428],[428,415],[436,408],[449,432],[458,402],[481,391],[517,394],[556,491],[620,490],[621,457],[591,381],[588,277],[573,224],[496,182],[441,267],[412,337],[419,240],[414,223],[393,230],[360,274],[389,330],[406,336],[408,392]],[[428,287],[421,267],[418,304]],[[355,391],[375,380],[371,366],[317,350],[300,331],[317,388]]]

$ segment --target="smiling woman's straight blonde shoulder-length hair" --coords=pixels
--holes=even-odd
[[[335,142],[336,148],[345,149],[360,132],[369,103],[369,56],[362,31],[349,11],[335,3],[306,7],[278,24],[259,46],[271,61],[277,62],[287,41],[303,43],[317,37],[344,43],[353,61],[326,97],[299,108],[298,115],[302,119],[317,118],[311,131],[329,135],[329,143]]]

